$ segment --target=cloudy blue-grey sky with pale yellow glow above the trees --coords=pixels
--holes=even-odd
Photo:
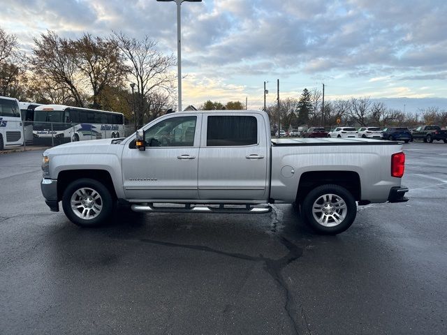
[[[176,55],[176,10],[156,0],[1,0],[0,26],[24,49],[46,29],[66,37],[148,34]],[[446,0],[203,0],[182,5],[183,105],[263,105],[325,83],[329,99],[447,109]],[[173,68],[175,70],[175,68]],[[426,100],[431,98],[432,100]],[[434,99],[441,98],[441,99]],[[444,104],[444,105],[443,105]],[[402,106],[401,106],[402,105]]]

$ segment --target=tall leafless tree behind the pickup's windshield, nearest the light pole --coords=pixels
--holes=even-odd
[[[175,73],[170,72],[171,66],[175,65],[173,55],[166,56],[156,50],[156,41],[145,36],[142,40],[129,38],[122,32],[114,32],[111,40],[117,43],[117,46],[124,54],[126,61],[129,62],[129,79],[137,87],[137,115],[138,123],[143,124],[143,116],[151,115],[149,110],[150,96],[152,94],[167,94],[172,97]]]

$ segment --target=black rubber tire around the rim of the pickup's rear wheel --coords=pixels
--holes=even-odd
[[[338,198],[341,198],[344,201],[344,203],[346,204],[346,212],[344,212],[344,211],[340,212],[340,213],[344,214],[344,218],[342,219],[342,221],[340,223],[337,224],[337,223],[335,223],[333,218],[328,218],[328,221],[329,220],[333,221],[333,222],[328,222],[328,224],[331,224],[331,225],[335,224],[332,227],[325,226],[321,223],[318,223],[318,221],[316,221],[316,218],[314,217],[314,213],[313,213],[314,203],[316,203],[317,200],[319,200],[319,198],[321,198],[325,194],[336,195]],[[333,198],[334,197],[332,197],[332,199]],[[331,200],[331,202],[332,202],[332,200]],[[332,202],[332,203],[334,203],[334,202]],[[333,208],[335,208],[335,207],[333,207]],[[334,212],[336,211],[335,209],[332,209],[332,207],[330,210],[334,211]],[[346,188],[344,188],[342,186],[332,185],[332,184],[321,185],[321,186],[314,188],[306,196],[305,200],[302,202],[301,215],[302,215],[302,218],[307,222],[307,224],[309,224],[312,229],[314,229],[316,232],[318,232],[318,234],[327,234],[327,235],[339,234],[340,232],[344,232],[346,229],[351,227],[352,223],[356,219],[356,215],[357,215],[356,200],[354,199],[351,192],[349,192],[348,190],[346,190]],[[316,214],[316,216],[318,216],[318,214]],[[321,217],[323,217],[323,213],[321,213]]]

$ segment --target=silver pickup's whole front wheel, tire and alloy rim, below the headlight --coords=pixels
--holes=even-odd
[[[113,198],[101,182],[83,178],[67,186],[62,208],[75,225],[94,227],[105,223],[112,214]]]

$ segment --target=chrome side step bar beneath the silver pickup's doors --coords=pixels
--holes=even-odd
[[[186,204],[184,208],[182,207],[154,207],[154,204],[132,204],[131,209],[133,211],[138,211],[140,213],[220,213],[220,214],[265,214],[272,211],[272,207],[250,207],[250,205],[245,206],[245,208],[228,208],[221,204],[219,207],[208,207],[208,206],[191,206]]]

